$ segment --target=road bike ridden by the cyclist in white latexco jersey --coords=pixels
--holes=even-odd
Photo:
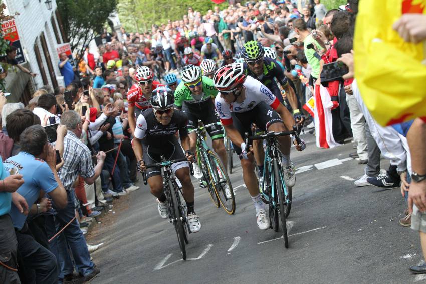
[[[248,151],[251,141],[261,139],[265,139],[266,141],[261,195],[266,200],[266,203],[269,204],[270,228],[278,232],[279,218],[281,219],[284,245],[286,248],[289,247],[286,217],[290,214],[292,188],[287,188],[284,181],[283,166],[281,165],[282,154],[278,148],[277,138],[287,135],[293,135],[297,143],[301,144],[295,125],[292,131],[269,132],[255,136],[249,136],[248,132],[245,133],[246,151]]]

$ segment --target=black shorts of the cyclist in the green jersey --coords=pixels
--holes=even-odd
[[[204,125],[220,122],[215,112],[215,106],[212,103],[204,103],[204,105],[205,107],[196,111],[193,108],[189,109],[185,104],[182,106],[182,112],[188,116],[188,131],[198,127],[198,120],[201,120]],[[221,125],[208,127],[207,133],[210,135],[211,140],[223,139],[225,137],[224,129]]]

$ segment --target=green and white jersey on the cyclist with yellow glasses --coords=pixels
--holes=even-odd
[[[177,107],[182,107],[183,102],[185,106],[189,109],[200,109],[203,104],[207,102],[210,98],[215,98],[218,94],[218,90],[215,88],[214,82],[212,79],[202,76],[202,94],[194,97],[184,82],[180,82],[177,86],[176,91],[174,91],[174,104]]]

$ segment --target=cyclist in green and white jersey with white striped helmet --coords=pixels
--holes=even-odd
[[[177,86],[174,92],[174,105],[177,109],[182,109],[183,113],[188,116],[188,129],[192,130],[198,127],[198,120],[201,120],[204,125],[219,122],[219,118],[215,113],[213,100],[218,94],[213,81],[201,75],[201,69],[194,65],[183,67],[180,72],[182,82]],[[212,140],[213,149],[219,155],[222,164],[227,167],[227,152],[224,144],[224,131],[220,125],[214,125],[207,129]],[[191,141],[191,151],[196,149],[196,134],[189,134]],[[198,163],[194,165],[194,176],[197,179],[202,177]],[[225,188],[225,193],[231,197],[228,185]]]

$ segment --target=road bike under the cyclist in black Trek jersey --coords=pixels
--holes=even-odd
[[[167,208],[168,208],[168,217],[169,223],[174,225],[176,230],[177,240],[179,241],[180,252],[182,254],[182,259],[186,260],[186,247],[185,244],[188,243],[188,233],[191,231],[188,229],[189,224],[186,219],[186,204],[184,203],[182,190],[178,187],[175,181],[175,176],[171,170],[171,165],[174,163],[188,161],[186,158],[176,159],[166,161],[164,156],[161,156],[161,162],[146,165],[146,168],[150,167],[161,167],[161,176],[163,177],[163,186],[164,193],[167,197]],[[189,170],[191,176],[194,174],[192,169],[192,164],[189,164]],[[146,180],[146,173],[142,171],[143,183],[148,184]],[[182,202],[183,200],[183,202]]]

